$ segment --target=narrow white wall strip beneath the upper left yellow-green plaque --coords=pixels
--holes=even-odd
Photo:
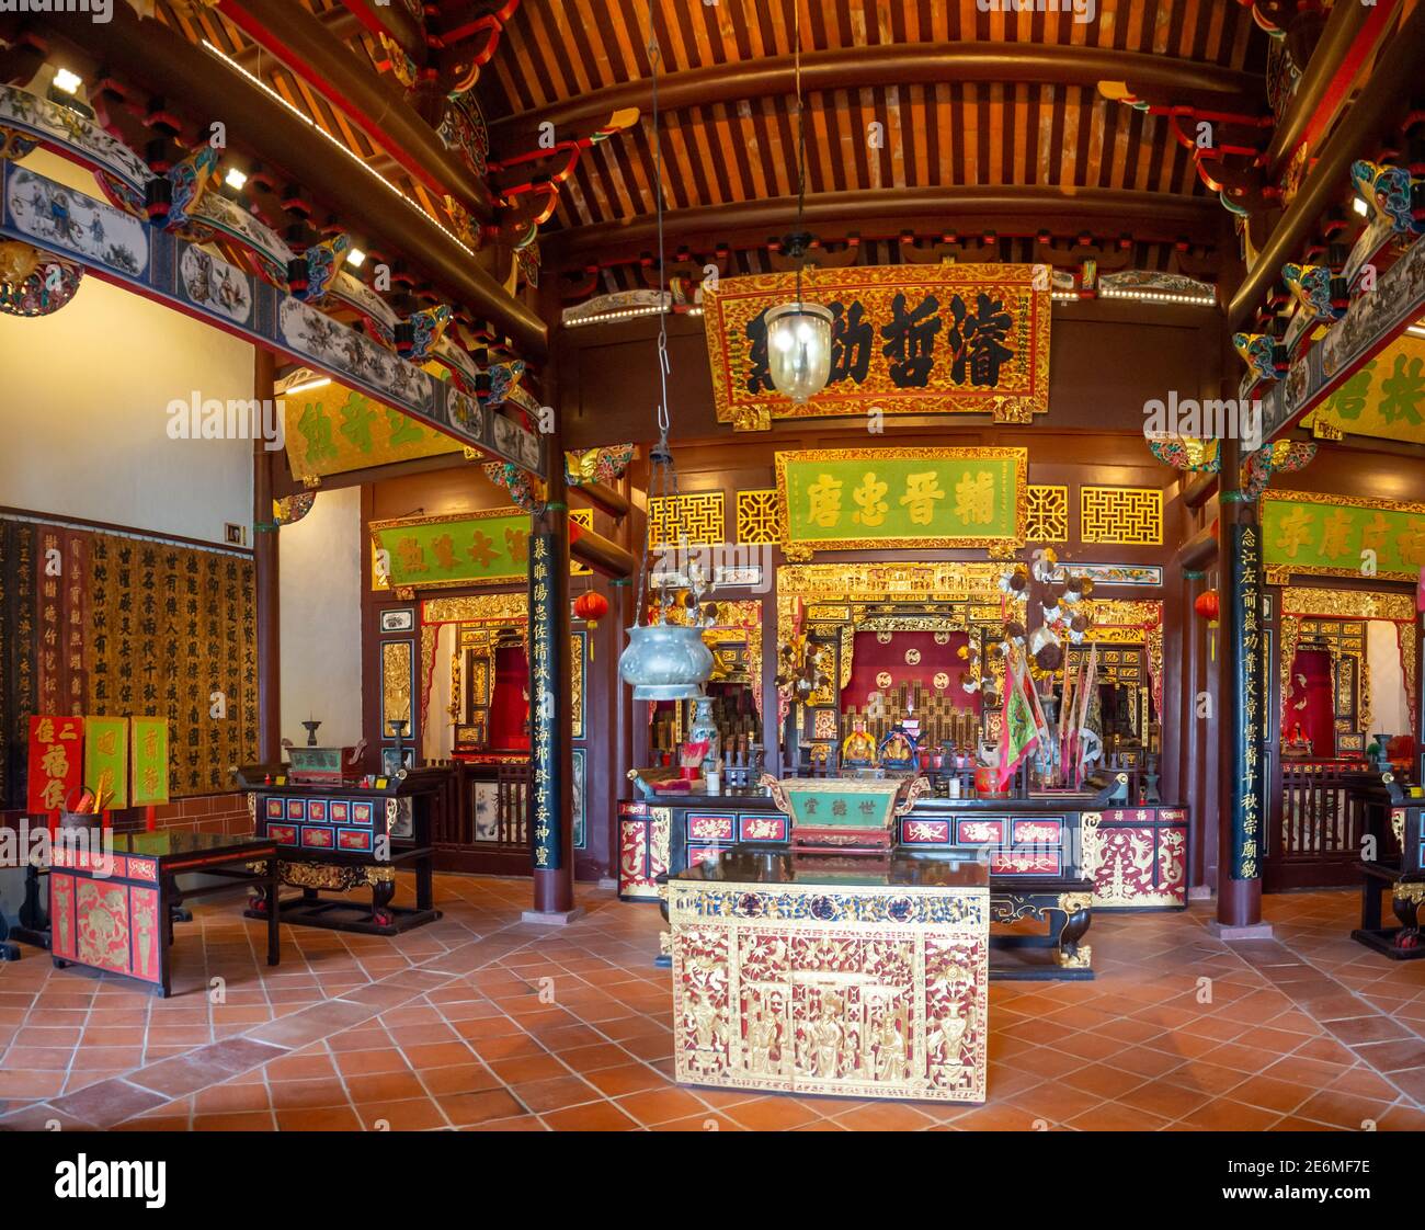
[[[282,734],[306,743],[302,723],[322,723],[316,741],[361,740],[361,489],[318,492],[312,510],[282,526]]]

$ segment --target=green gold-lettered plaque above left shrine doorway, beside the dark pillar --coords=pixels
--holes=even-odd
[[[372,522],[376,579],[392,589],[450,589],[524,580],[530,515],[486,509]]]

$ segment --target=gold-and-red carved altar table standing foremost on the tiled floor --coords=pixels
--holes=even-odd
[[[985,1100],[983,864],[735,847],[667,908],[681,1083]]]

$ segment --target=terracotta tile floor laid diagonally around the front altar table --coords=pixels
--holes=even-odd
[[[409,885],[403,887],[403,891]],[[439,877],[395,941],[200,908],[174,996],[48,958],[0,965],[0,1126],[137,1130],[1425,1127],[1425,961],[1349,939],[1357,896],[1267,899],[1277,939],[1188,914],[1102,914],[1099,978],[992,983],[982,1107],[693,1090],[670,1079],[660,919],[581,889],[523,925],[523,881]]]

